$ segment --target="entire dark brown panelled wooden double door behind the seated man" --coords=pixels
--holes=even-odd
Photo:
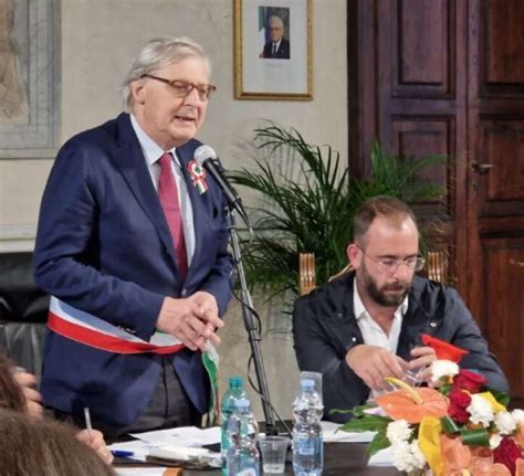
[[[524,2],[348,3],[350,169],[389,150],[444,154],[430,176],[451,284],[524,399]]]

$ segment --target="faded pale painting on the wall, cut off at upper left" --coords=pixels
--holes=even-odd
[[[59,2],[0,0],[0,159],[53,157]]]

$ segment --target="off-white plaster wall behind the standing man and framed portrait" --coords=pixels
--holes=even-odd
[[[345,0],[313,1],[312,102],[233,98],[232,0],[62,0],[61,17],[62,142],[116,116],[120,110],[119,84],[133,55],[150,38],[172,34],[193,38],[212,60],[213,82],[219,91],[199,138],[212,145],[228,168],[243,165],[239,144],[252,137],[261,118],[295,127],[310,142],[331,144],[342,157],[347,156]],[[31,248],[51,165],[52,159],[0,160],[0,251]],[[289,322],[275,326],[286,327]],[[235,305],[229,313],[228,327],[229,336],[223,336],[220,349],[227,366],[223,378],[235,368],[245,368],[243,357],[231,357],[247,352]],[[294,375],[292,382],[296,381],[290,336],[270,337],[263,345],[263,349],[268,348],[272,396],[289,416],[285,388],[290,372]]]

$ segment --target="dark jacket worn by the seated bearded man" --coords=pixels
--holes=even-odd
[[[353,313],[353,281],[347,274],[300,298],[293,309],[293,337],[301,370],[323,374],[324,417],[345,422],[347,414],[329,414],[332,409],[349,410],[364,404],[369,388],[346,364],[346,353],[364,343]],[[443,339],[469,350],[460,367],[480,371],[488,385],[509,392],[510,385],[470,311],[454,289],[416,276],[402,319],[397,355],[409,360],[420,335]]]

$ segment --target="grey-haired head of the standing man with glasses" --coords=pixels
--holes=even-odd
[[[202,47],[188,38],[158,38],[136,55],[123,84],[124,102],[164,150],[192,139],[214,86]]]

